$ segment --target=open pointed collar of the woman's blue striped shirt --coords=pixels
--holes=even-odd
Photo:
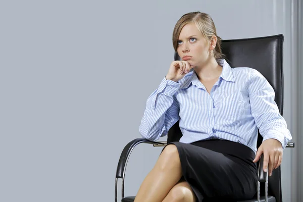
[[[234,82],[235,80],[232,73],[232,68],[229,66],[229,64],[224,59],[217,60],[217,63],[222,67],[220,77],[226,81]],[[191,71],[185,75],[183,81],[184,82],[181,84],[180,88],[187,88],[190,84],[197,86],[199,83],[201,83],[195,71]]]

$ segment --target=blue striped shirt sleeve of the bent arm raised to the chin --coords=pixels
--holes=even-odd
[[[147,98],[146,109],[139,127],[143,138],[155,141],[167,135],[179,120],[179,104],[175,97],[180,82],[162,80],[160,86]]]

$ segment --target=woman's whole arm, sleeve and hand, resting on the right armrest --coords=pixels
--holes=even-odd
[[[249,100],[251,115],[263,136],[263,142],[257,150],[253,162],[259,161],[264,154],[263,170],[272,175],[273,169],[282,162],[283,149],[291,139],[284,118],[280,115],[275,103],[275,92],[260,72],[250,72]]]

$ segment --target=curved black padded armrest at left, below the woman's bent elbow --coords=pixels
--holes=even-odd
[[[159,146],[159,145],[166,145],[166,142],[156,142],[156,141],[149,141],[148,139],[144,138],[136,138],[132,141],[130,141],[124,149],[122,150],[118,166],[117,166],[117,172],[116,172],[116,178],[122,178],[125,172],[125,167],[128,161],[128,158],[131,154],[131,151],[134,149],[134,147],[140,143],[149,143],[149,144],[154,144],[154,146]]]

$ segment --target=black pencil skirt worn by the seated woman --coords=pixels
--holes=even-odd
[[[257,192],[255,153],[244,144],[228,140],[202,140],[176,145],[184,178],[197,201],[238,201]]]

